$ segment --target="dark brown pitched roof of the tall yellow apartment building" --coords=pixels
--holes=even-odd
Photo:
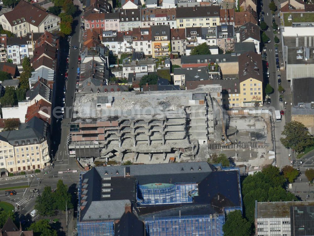
[[[260,54],[247,52],[239,56],[239,82],[253,78],[263,82],[263,64]]]

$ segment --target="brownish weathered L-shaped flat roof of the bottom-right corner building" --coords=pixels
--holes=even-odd
[[[258,202],[255,218],[290,218],[290,206],[314,206],[314,201]]]

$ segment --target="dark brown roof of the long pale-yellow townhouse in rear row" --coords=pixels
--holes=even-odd
[[[219,17],[219,6],[178,7],[176,18]]]

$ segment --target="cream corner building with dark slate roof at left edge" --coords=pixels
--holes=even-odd
[[[0,133],[0,166],[8,172],[43,170],[50,165],[47,123],[37,117],[18,130]]]

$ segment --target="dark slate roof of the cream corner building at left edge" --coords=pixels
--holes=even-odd
[[[11,145],[22,145],[23,141],[25,144],[27,141],[40,143],[42,138],[46,138],[46,132],[47,123],[34,116],[27,123],[22,123],[18,130],[1,132],[0,136],[7,139]]]

